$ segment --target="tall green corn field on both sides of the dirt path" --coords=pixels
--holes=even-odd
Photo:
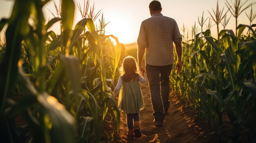
[[[91,143],[100,142],[103,134],[110,138],[115,133],[102,130],[102,124],[110,116],[118,133],[120,112],[112,89],[119,77],[121,44],[105,35],[103,15],[99,26],[94,25],[100,12],[90,9],[89,1],[78,5],[82,19],[76,24],[73,0],[61,0],[59,8],[55,5],[58,14],[46,22],[42,8],[49,1],[16,0],[11,17],[0,20],[0,31],[7,26],[6,42],[0,43],[0,142]],[[198,111],[220,142],[237,142],[241,130],[247,131],[247,142],[254,142],[256,15],[247,13],[249,24],[238,24],[240,13],[252,4],[226,0],[226,7],[228,11],[219,9],[217,2],[216,11],[208,11],[205,31],[204,13],[198,18],[200,33],[196,25],[191,30],[183,26],[184,67],[179,75],[172,71],[171,88]],[[236,19],[235,31],[225,29],[227,13]],[[217,37],[211,36],[210,21]],[[58,22],[59,35],[51,30]],[[17,117],[26,124],[17,125]],[[232,139],[223,139],[224,117],[232,124]]]

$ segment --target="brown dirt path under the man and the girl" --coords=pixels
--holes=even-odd
[[[121,113],[120,134],[117,142],[120,143],[200,143],[214,142],[205,134],[211,131],[207,124],[202,121],[195,121],[195,112],[175,95],[170,93],[171,105],[164,120],[164,126],[153,125],[153,108],[150,101],[148,82],[141,84],[144,96],[145,108],[140,112],[140,128],[143,134],[139,139],[127,139],[126,115]]]

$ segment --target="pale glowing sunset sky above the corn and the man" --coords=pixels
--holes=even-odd
[[[52,0],[48,2],[43,7],[43,12],[45,20],[48,21],[52,19],[52,13],[56,13],[54,2],[59,3],[59,0]],[[90,6],[94,4],[95,11],[100,11],[103,13],[105,22],[109,22],[106,26],[106,35],[114,35],[118,37],[119,42],[121,43],[132,43],[137,41],[139,35],[139,28],[141,22],[147,18],[150,18],[150,13],[148,5],[152,0],[90,0]],[[227,0],[229,3],[233,3],[234,0]],[[245,2],[246,0],[242,0]],[[11,15],[13,0],[0,0],[0,19],[9,18]],[[85,0],[86,2],[86,0]],[[213,10],[216,10],[217,0],[159,0],[162,4],[162,14],[168,17],[171,17],[176,20],[178,26],[182,28],[183,24],[191,30],[191,27],[196,24],[198,29],[201,27],[198,24],[198,17],[201,19],[202,13],[204,12],[204,19],[207,19],[206,24],[209,22],[210,11],[213,14]],[[224,8],[224,12],[227,11],[225,5],[226,0],[219,0],[219,8]],[[248,5],[255,0],[248,0],[245,5]],[[81,13],[78,10],[77,4],[83,6],[84,0],[74,0],[75,3],[75,18],[74,24],[82,19]],[[213,9],[213,10],[212,10]],[[249,20],[245,15],[245,12],[249,14],[250,9],[247,9],[238,17],[238,24],[247,24],[249,25]],[[256,11],[256,4],[252,6],[253,13]],[[231,16],[231,13],[227,13],[228,17]],[[99,16],[101,18],[101,15]],[[99,19],[98,18],[98,19]],[[99,20],[95,21],[99,24]],[[256,20],[252,22],[256,24]],[[214,22],[212,22],[212,25]],[[58,24],[52,28],[57,34],[60,33]],[[220,25],[220,29],[223,27]],[[235,19],[231,16],[229,23],[227,24],[226,29],[235,29]],[[203,31],[206,30],[206,26],[203,27]],[[200,30],[201,31],[201,30]],[[211,28],[212,35],[216,36],[216,26]],[[3,34],[3,32],[1,32]],[[180,30],[180,33],[182,31]]]

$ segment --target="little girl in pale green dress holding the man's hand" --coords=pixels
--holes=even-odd
[[[128,56],[123,61],[123,75],[118,79],[114,95],[120,91],[118,97],[118,108],[127,114],[128,138],[141,137],[139,129],[139,111],[144,109],[144,101],[139,82],[146,83],[144,73],[137,73],[137,63],[134,57]],[[134,125],[133,125],[134,121]]]

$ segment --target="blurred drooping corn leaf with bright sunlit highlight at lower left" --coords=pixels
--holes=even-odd
[[[39,110],[43,113],[40,117],[49,117],[50,121],[52,122],[55,136],[51,140],[53,142],[60,141],[63,143],[74,142],[75,120],[65,109],[65,106],[59,103],[56,98],[48,95],[46,92],[42,94],[38,93],[31,81],[27,79],[21,66],[19,67],[18,83],[24,91],[23,96],[36,98],[36,103],[39,104]],[[70,136],[63,136],[63,134],[69,134]]]

